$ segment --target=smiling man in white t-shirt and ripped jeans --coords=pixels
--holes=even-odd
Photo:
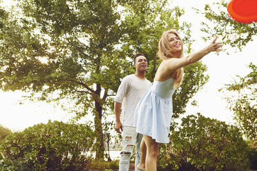
[[[145,78],[147,60],[144,54],[137,53],[134,56],[135,74],[130,74],[122,80],[114,99],[115,131],[122,133],[122,152],[120,154],[120,171],[128,171],[129,161],[135,145],[135,170],[140,163],[140,143],[142,134],[135,132],[133,127],[134,112],[137,103],[151,86],[151,82]],[[120,109],[122,106],[122,115]]]

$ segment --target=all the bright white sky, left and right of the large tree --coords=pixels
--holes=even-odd
[[[194,50],[200,50],[207,46],[209,42],[202,41],[200,32],[200,22],[204,17],[200,17],[191,8],[203,8],[204,3],[211,3],[214,0],[173,0],[174,6],[184,8],[185,14],[182,20],[192,23],[192,38],[196,39],[193,43]],[[229,0],[228,0],[229,1]],[[4,4],[8,5],[10,0],[4,0]],[[210,40],[211,41],[211,40]],[[202,59],[207,65],[209,74],[209,82],[204,85],[193,99],[198,101],[198,106],[187,107],[187,114],[196,114],[200,112],[205,117],[225,121],[228,124],[234,123],[232,112],[226,107],[227,103],[222,99],[224,94],[218,90],[227,83],[232,83],[236,79],[236,75],[245,76],[250,70],[247,68],[250,62],[257,64],[256,53],[257,37],[254,41],[247,43],[242,52],[232,52],[227,55],[221,52],[220,55],[214,53],[208,54]],[[58,106],[51,103],[34,102],[20,105],[19,100],[26,95],[24,92],[3,92],[0,90],[0,124],[13,131],[24,130],[37,123],[47,123],[48,120],[68,121],[71,114],[64,112]],[[185,116],[184,115],[184,116]]]

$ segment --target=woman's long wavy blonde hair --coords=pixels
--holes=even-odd
[[[162,61],[164,59],[173,58],[173,54],[172,54],[173,50],[169,46],[169,38],[168,38],[168,35],[170,33],[175,34],[178,37],[178,39],[180,39],[180,41],[182,42],[182,39],[180,38],[180,36],[178,35],[178,32],[176,30],[171,29],[171,30],[164,32],[159,41],[158,52],[157,52],[158,57]],[[182,58],[184,55],[183,42],[182,42],[181,46],[182,46],[182,50],[181,50],[179,58]],[[179,68],[178,70],[175,70],[174,72],[175,72],[174,88],[177,89],[182,84],[184,70],[183,70],[183,68]]]

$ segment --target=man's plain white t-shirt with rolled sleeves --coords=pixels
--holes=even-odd
[[[135,74],[130,74],[122,79],[114,101],[122,103],[121,122],[123,126],[133,127],[137,103],[150,86],[151,82],[148,79],[140,79]]]

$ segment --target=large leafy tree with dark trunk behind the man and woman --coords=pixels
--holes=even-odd
[[[97,158],[104,157],[103,119],[112,114],[120,79],[134,72],[133,54],[146,54],[153,80],[164,30],[184,34],[187,52],[193,41],[190,24],[179,22],[184,11],[164,0],[22,0],[0,14],[0,88],[29,92],[39,101],[64,99],[76,119],[93,114]],[[202,63],[185,69],[185,83],[174,96],[180,106],[175,117],[207,81],[206,69]]]

